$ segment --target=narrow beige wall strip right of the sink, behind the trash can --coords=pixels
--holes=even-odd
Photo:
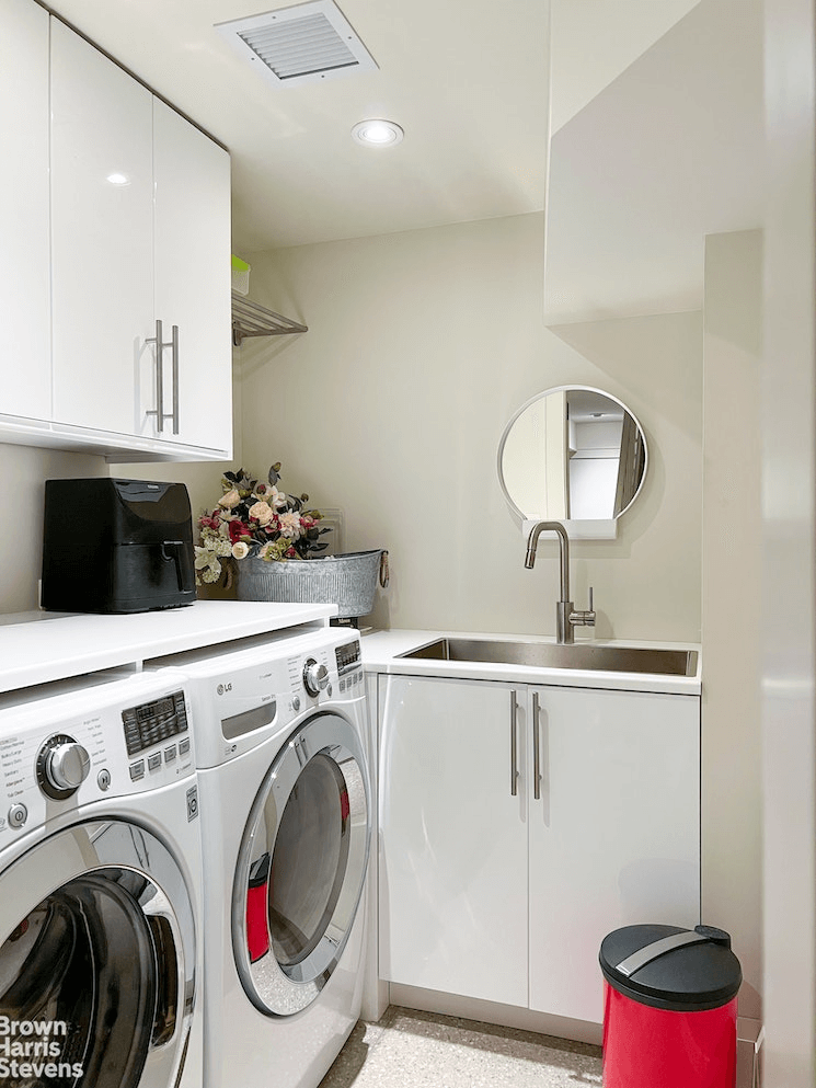
[[[731,932],[761,1019],[762,232],[705,241],[702,917]]]

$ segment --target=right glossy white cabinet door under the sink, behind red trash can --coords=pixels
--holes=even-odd
[[[700,703],[579,688],[533,695],[530,1007],[600,1021],[602,938],[700,920]]]

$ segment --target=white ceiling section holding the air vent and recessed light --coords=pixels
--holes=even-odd
[[[48,5],[230,149],[238,253],[543,207],[545,0],[340,0],[378,70],[283,88],[214,24],[289,0]],[[404,141],[354,144],[379,116]]]

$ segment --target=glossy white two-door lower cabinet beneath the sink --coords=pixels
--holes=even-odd
[[[414,676],[379,696],[381,977],[599,1022],[606,934],[700,920],[699,699]]]

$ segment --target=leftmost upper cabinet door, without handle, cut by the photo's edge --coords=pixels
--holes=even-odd
[[[0,11],[0,413],[50,419],[48,13],[31,0]]]

